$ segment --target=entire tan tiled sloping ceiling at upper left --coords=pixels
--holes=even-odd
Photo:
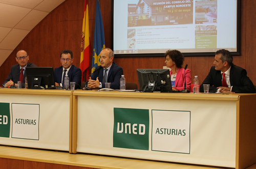
[[[65,0],[0,0],[0,66],[28,33],[63,2]]]

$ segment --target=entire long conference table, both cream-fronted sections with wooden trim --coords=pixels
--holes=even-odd
[[[255,100],[0,88],[0,144],[240,169],[256,162]]]

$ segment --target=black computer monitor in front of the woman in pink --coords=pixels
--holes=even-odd
[[[137,69],[137,76],[143,92],[172,92],[169,69]]]

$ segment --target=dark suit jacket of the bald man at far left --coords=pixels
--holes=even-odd
[[[37,67],[37,66],[35,64],[28,63],[27,67]],[[14,83],[17,83],[17,81],[19,81],[19,73],[20,73],[19,64],[13,65],[11,68],[10,74],[8,75],[7,79],[3,83],[3,86],[5,85],[5,83],[7,83],[10,80],[14,81]],[[26,73],[26,69],[25,69],[25,73],[23,76],[22,88],[25,88],[25,77],[26,76],[27,76],[27,73]]]

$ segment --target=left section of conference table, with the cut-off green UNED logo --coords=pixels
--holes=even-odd
[[[72,92],[0,88],[0,145],[72,152]]]

